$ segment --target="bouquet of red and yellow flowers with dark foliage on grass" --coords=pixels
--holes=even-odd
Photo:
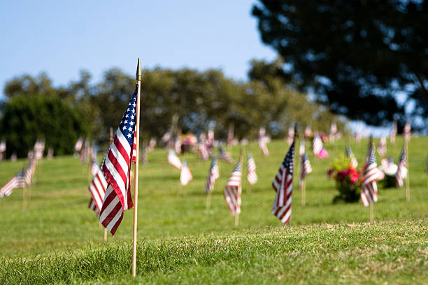
[[[339,195],[334,197],[333,203],[341,200],[345,202],[356,202],[361,193],[363,170],[352,166],[349,157],[341,156],[334,161],[334,164],[327,171],[327,176],[336,181],[336,189]]]

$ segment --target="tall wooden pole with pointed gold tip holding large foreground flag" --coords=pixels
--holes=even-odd
[[[136,162],[134,174],[134,231],[132,235],[132,277],[136,275],[136,230],[137,230],[137,210],[138,210],[138,150],[140,149],[140,94],[141,94],[141,61],[138,57],[137,71],[137,105],[136,105]]]

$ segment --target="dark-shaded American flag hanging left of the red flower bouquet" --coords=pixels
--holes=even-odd
[[[273,179],[272,187],[276,191],[273,200],[272,214],[280,219],[281,223],[287,224],[291,217],[292,192],[293,192],[293,169],[294,169],[294,141],[285,155],[283,163]]]

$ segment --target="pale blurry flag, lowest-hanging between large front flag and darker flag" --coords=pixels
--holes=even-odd
[[[241,157],[231,173],[226,187],[224,187],[224,200],[232,216],[241,212]]]

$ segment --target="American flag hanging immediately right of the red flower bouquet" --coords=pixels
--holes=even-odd
[[[376,164],[376,154],[374,149],[373,138],[369,142],[369,155],[367,158],[366,166],[364,168],[364,180],[361,185],[361,200],[364,206],[378,201],[378,168]]]

